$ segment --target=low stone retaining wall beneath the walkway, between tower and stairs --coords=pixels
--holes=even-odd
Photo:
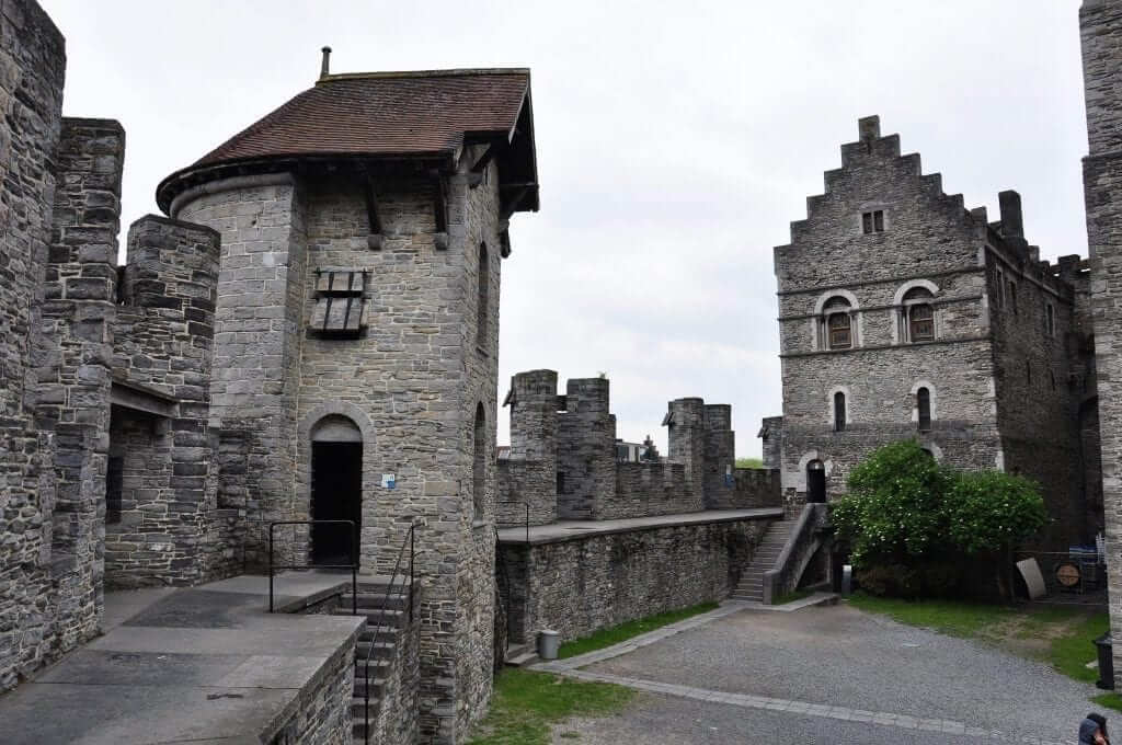
[[[511,577],[512,643],[551,628],[562,642],[597,629],[724,600],[739,581],[769,521],[738,519],[552,543],[503,543]]]

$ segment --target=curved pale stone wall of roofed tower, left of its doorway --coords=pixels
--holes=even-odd
[[[173,214],[221,236],[214,311],[211,419],[251,433],[246,506],[251,523],[291,519],[296,458],[296,366],[304,300],[304,213],[287,176],[259,184],[210,185]],[[306,513],[304,513],[306,515]],[[254,564],[264,565],[264,531],[250,531]],[[288,534],[279,549],[285,555]]]

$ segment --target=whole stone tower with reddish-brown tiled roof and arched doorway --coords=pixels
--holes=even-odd
[[[491,689],[499,267],[512,214],[537,209],[528,71],[325,58],[157,199],[222,237],[212,416],[248,433],[249,518],[352,519],[371,573],[417,525],[421,736],[462,742]]]

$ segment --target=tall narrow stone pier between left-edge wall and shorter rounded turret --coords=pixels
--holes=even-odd
[[[53,230],[36,358],[36,415],[55,431],[52,571],[62,651],[92,636],[102,613],[102,523],[116,314],[125,131],[63,119]]]

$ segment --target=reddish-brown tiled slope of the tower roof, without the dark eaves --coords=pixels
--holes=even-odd
[[[528,91],[528,70],[330,75],[194,165],[451,151],[465,132],[508,137]]]

